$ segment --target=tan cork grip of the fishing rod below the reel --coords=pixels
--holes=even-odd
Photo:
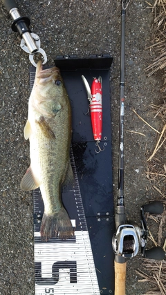
[[[115,295],[125,295],[126,287],[126,268],[127,263],[117,263],[115,265]]]

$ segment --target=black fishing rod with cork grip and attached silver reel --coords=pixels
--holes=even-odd
[[[146,250],[147,222],[145,213],[163,213],[163,204],[155,201],[140,208],[139,227],[127,220],[124,210],[124,69],[125,69],[125,16],[129,0],[121,1],[121,53],[120,53],[120,122],[119,122],[119,168],[118,168],[118,204],[116,209],[116,233],[112,245],[115,253],[115,295],[125,295],[127,259],[138,254],[139,248],[143,257],[163,260],[165,251],[161,247]]]

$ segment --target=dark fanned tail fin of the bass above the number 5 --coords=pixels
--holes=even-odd
[[[74,236],[71,220],[64,207],[62,207],[60,211],[54,215],[48,216],[44,213],[40,227],[40,234],[42,240],[46,241],[53,237],[66,240]]]

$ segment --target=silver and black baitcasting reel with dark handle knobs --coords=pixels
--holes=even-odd
[[[163,209],[163,204],[158,201],[145,204],[140,208],[141,227],[135,222],[118,225],[112,241],[115,254],[124,258],[133,258],[138,254],[140,248],[143,257],[163,260],[165,258],[165,251],[161,247],[153,247],[146,250],[148,229],[145,220],[146,212],[160,214],[163,213]]]

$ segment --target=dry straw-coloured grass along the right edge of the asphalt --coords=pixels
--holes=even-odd
[[[147,75],[153,75],[158,70],[165,70],[166,68],[166,0],[154,0],[154,5],[151,5],[148,1],[147,5],[154,13],[153,23],[153,36],[152,45],[147,48],[148,50],[154,50],[158,57],[154,59],[145,71]],[[163,73],[163,72],[162,72]],[[163,88],[160,89],[162,93],[166,92],[166,75],[163,75]],[[151,184],[151,188],[158,193],[158,199],[165,205],[165,210],[162,215],[153,216],[147,214],[147,223],[153,224],[155,231],[153,234],[149,231],[148,245],[151,243],[151,247],[160,246],[163,247],[166,252],[166,161],[165,161],[165,143],[166,143],[166,102],[156,106],[150,105],[151,112],[154,113],[154,118],[158,117],[161,120],[163,128],[160,132],[157,131],[157,139],[154,147],[154,151],[149,154],[147,151],[147,171],[146,175]],[[133,110],[134,111],[134,110]],[[136,111],[134,111],[136,113]],[[136,113],[136,115],[138,115]],[[140,117],[145,124],[149,124]],[[154,129],[152,126],[150,126]],[[150,227],[151,228],[151,227]],[[140,283],[149,282],[151,287],[149,292],[142,295],[165,295],[166,294],[166,260],[148,260],[142,259],[140,269],[136,271],[140,276]]]

